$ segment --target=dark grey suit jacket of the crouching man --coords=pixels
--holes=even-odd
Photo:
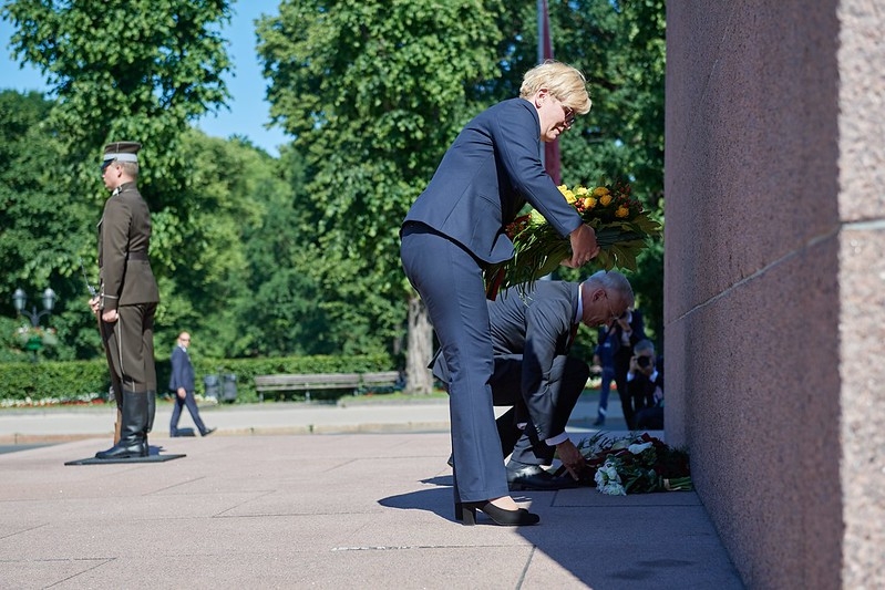
[[[572,343],[578,287],[577,282],[537,281],[525,296],[507,289],[487,302],[495,355],[493,390],[511,386],[522,392],[541,441],[562,434],[552,432],[557,408],[549,376],[554,360],[566,354]],[[521,366],[518,380],[507,374],[514,366]],[[434,360],[433,374],[447,381],[441,354]]]

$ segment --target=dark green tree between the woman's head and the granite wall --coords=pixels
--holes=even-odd
[[[627,179],[634,195],[662,220],[665,1],[550,0],[548,6],[555,58],[584,72],[593,100],[590,112],[560,139],[563,182]],[[506,35],[500,45],[506,66],[495,81],[501,99],[516,95],[523,73],[537,62],[536,19],[534,2],[514,2],[498,21]],[[660,337],[662,237],[640,255],[638,267],[628,276],[650,331]],[[590,269],[562,267],[557,275],[577,280]]]

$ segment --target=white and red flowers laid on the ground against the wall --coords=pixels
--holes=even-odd
[[[651,491],[691,490],[688,453],[648,433],[619,438],[597,433],[577,445],[601,494],[626,496]],[[556,475],[562,475],[560,467]]]

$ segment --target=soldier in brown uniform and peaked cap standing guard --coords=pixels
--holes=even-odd
[[[135,186],[141,147],[136,142],[109,144],[102,163],[104,186],[112,193],[99,222],[101,289],[90,306],[99,315],[119,435],[114,446],[95,454],[100,459],[146,457],[154,422],[154,313],[159,292],[147,259],[151,211]]]

